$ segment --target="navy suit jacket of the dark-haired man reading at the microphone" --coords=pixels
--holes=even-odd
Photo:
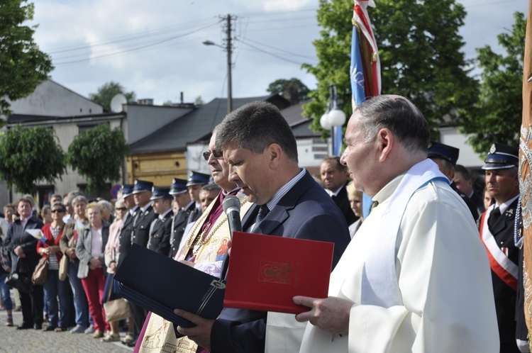
[[[243,229],[255,223],[259,206],[253,207],[243,218]],[[333,266],[351,239],[343,214],[309,172],[253,232],[334,242]],[[212,327],[211,352],[264,352],[266,318],[264,311],[224,308]]]

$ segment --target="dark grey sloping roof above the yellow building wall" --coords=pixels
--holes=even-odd
[[[279,108],[289,102],[277,94],[271,96],[233,98],[233,109],[253,101],[269,101]],[[204,106],[177,118],[145,138],[130,145],[131,152],[153,153],[187,150],[187,144],[210,138],[212,130],[227,113],[227,99],[216,98]]]

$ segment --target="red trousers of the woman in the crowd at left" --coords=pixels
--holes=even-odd
[[[82,286],[87,295],[89,312],[94,320],[94,328],[101,332],[109,331],[109,323],[105,320],[104,306],[101,301],[104,298],[105,277],[104,270],[89,269],[87,278],[82,279]]]

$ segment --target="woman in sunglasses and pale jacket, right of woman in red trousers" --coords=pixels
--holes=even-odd
[[[123,217],[128,211],[128,208],[126,207],[126,203],[123,201],[123,198],[116,201],[115,211],[116,218],[113,224],[111,224],[111,226],[109,227],[109,240],[107,240],[107,244],[105,246],[105,265],[107,267],[107,281],[104,290],[104,303],[107,301],[107,298],[109,298],[109,291],[111,291],[111,297],[109,298],[110,301],[113,301],[114,299],[118,298],[118,296],[116,296],[116,294],[114,294],[112,291],[113,278],[116,272],[118,261],[118,237],[120,236],[120,232],[122,230]],[[131,342],[134,339],[133,318],[128,318],[128,325],[128,334],[126,335],[124,342]],[[110,334],[102,338],[101,341],[113,342],[120,340],[120,335],[118,335],[118,321],[109,322],[109,326],[111,327]]]

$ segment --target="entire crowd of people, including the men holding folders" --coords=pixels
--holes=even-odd
[[[135,352],[530,352],[519,150],[494,141],[479,189],[457,164],[458,148],[430,141],[416,106],[385,95],[355,109],[345,143],[341,157],[323,159],[316,180],[299,167],[278,109],[254,102],[214,129],[203,154],[210,175],[191,172],[170,186],[135,180],[114,204],[53,195],[39,217],[31,196],[6,205],[6,325],[15,308],[4,279],[31,276],[46,257],[44,285],[15,293],[16,327],[73,326],[72,334],[121,340],[104,303],[119,298],[113,276],[132,245],[225,279],[231,234],[222,203],[235,196],[244,231],[334,243],[328,298],[294,297],[307,308],[297,315],[223,308],[208,320],[175,308],[194,327],[174,327],[130,301],[121,323]],[[363,194],[372,200],[367,213]]]

